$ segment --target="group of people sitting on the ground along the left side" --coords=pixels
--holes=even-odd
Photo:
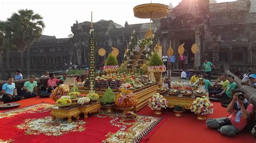
[[[89,70],[85,71],[85,74],[89,74]],[[46,71],[44,75],[41,77],[50,77],[47,81],[46,87],[41,87],[41,92],[38,94],[37,91],[37,81],[35,81],[35,76],[30,76],[29,81],[26,81],[23,84],[23,87],[16,86],[14,81],[23,80],[23,75],[21,74],[21,70],[17,69],[15,71],[15,77],[8,77],[7,83],[2,85],[2,101],[4,103],[15,102],[25,98],[33,98],[39,95],[39,97],[49,97],[51,95],[52,90],[54,90],[58,84],[63,84],[69,77],[67,77],[66,73],[62,74],[62,77],[57,79],[55,78],[55,74],[49,73]],[[82,76],[76,76],[75,80],[77,82],[83,82]]]

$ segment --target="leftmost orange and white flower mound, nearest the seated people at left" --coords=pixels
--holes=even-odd
[[[51,92],[50,98],[53,101],[57,101],[62,96],[67,96],[69,94],[69,88],[64,84],[59,85],[55,90]]]

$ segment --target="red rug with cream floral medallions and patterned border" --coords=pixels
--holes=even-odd
[[[51,120],[52,104],[41,103],[0,113],[1,142],[139,142],[146,141],[161,117],[138,115],[128,119],[121,112],[99,111],[89,118]],[[163,121],[161,121],[163,122]]]

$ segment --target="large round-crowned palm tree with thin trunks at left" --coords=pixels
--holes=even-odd
[[[27,50],[28,76],[30,75],[30,46],[39,39],[45,27],[43,17],[33,10],[19,10],[7,19],[13,44],[21,52],[21,68],[23,66],[23,52]]]

